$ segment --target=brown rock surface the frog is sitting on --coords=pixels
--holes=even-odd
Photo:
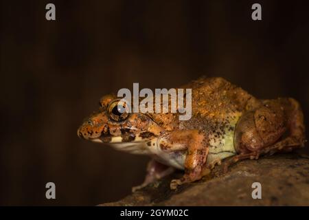
[[[201,181],[170,190],[181,172],[150,184],[124,199],[100,206],[309,206],[309,156],[297,153],[244,160],[223,174],[220,166]],[[262,199],[253,199],[253,182]]]

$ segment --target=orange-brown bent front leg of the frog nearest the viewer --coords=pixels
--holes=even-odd
[[[159,138],[158,145],[165,152],[187,152],[184,162],[185,175],[181,179],[173,179],[170,183],[171,189],[203,177],[202,169],[209,151],[207,138],[203,132],[184,130],[165,133]]]

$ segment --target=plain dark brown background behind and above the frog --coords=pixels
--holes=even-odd
[[[133,83],[222,76],[297,98],[308,124],[308,21],[306,1],[1,1],[0,204],[96,205],[140,184],[148,157],[76,135],[102,95]]]

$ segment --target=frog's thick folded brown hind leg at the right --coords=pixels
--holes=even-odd
[[[244,113],[238,122],[234,144],[239,155],[227,160],[223,169],[226,172],[228,166],[240,159],[292,151],[304,146],[304,142],[304,115],[298,102],[293,98],[265,100],[262,107]]]

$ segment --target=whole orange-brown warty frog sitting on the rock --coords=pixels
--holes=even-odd
[[[306,142],[304,113],[294,98],[258,99],[220,77],[180,88],[192,89],[189,120],[179,120],[179,113],[119,111],[119,98],[108,94],[78,128],[84,140],[150,156],[145,180],[133,192],[174,170],[183,175],[170,181],[171,190],[202,179],[215,166],[226,173],[242,159],[293,151]]]

